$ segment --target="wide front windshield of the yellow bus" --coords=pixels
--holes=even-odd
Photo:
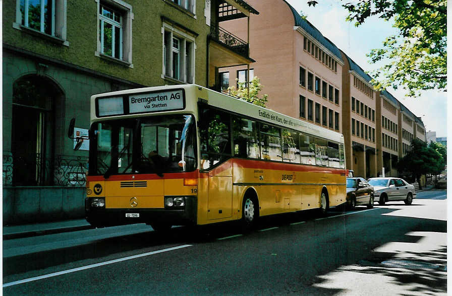
[[[196,168],[195,120],[165,115],[93,123],[90,175],[190,172]]]

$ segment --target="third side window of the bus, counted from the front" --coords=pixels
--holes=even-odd
[[[268,124],[260,124],[261,159],[282,161],[280,129]]]

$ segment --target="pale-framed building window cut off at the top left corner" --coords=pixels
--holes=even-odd
[[[66,1],[65,0],[16,0],[16,22],[13,27],[21,26],[66,41]]]

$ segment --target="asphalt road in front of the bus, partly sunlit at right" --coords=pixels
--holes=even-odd
[[[278,215],[246,233],[134,225],[8,240],[3,293],[445,295],[445,198]]]

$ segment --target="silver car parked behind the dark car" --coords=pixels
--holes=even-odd
[[[405,204],[411,204],[416,198],[414,186],[400,178],[370,178],[367,180],[375,191],[374,199],[384,205],[388,201],[403,200]]]

